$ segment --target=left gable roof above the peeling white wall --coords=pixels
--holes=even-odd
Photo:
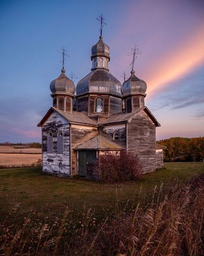
[[[63,112],[59,109],[56,109],[55,107],[51,107],[46,115],[44,115],[43,119],[40,121],[40,123],[37,125],[38,127],[41,127],[43,123],[47,120],[47,118],[53,113],[57,112],[60,115],[62,115],[65,119],[67,119],[71,124],[83,124],[83,125],[90,125],[90,126],[96,126],[97,123],[92,120],[91,118],[88,118],[87,115],[83,114],[82,112],[76,112],[73,111],[72,113]]]

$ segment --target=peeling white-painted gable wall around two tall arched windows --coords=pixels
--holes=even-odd
[[[57,153],[57,134],[63,133],[63,154]],[[47,134],[53,133],[53,153],[47,153]],[[68,121],[53,112],[42,127],[43,172],[70,176],[70,129]]]

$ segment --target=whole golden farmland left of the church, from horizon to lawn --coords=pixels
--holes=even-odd
[[[28,146],[0,146],[0,165],[32,164],[41,159],[41,148]]]

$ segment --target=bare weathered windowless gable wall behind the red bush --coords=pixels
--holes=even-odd
[[[155,124],[144,111],[127,124],[127,148],[136,153],[142,161],[144,172],[155,171],[156,145]]]

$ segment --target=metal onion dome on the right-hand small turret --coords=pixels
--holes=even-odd
[[[132,70],[131,76],[124,81],[122,85],[122,94],[127,93],[145,93],[147,90],[147,84],[142,79],[139,79],[135,75],[135,71]]]

